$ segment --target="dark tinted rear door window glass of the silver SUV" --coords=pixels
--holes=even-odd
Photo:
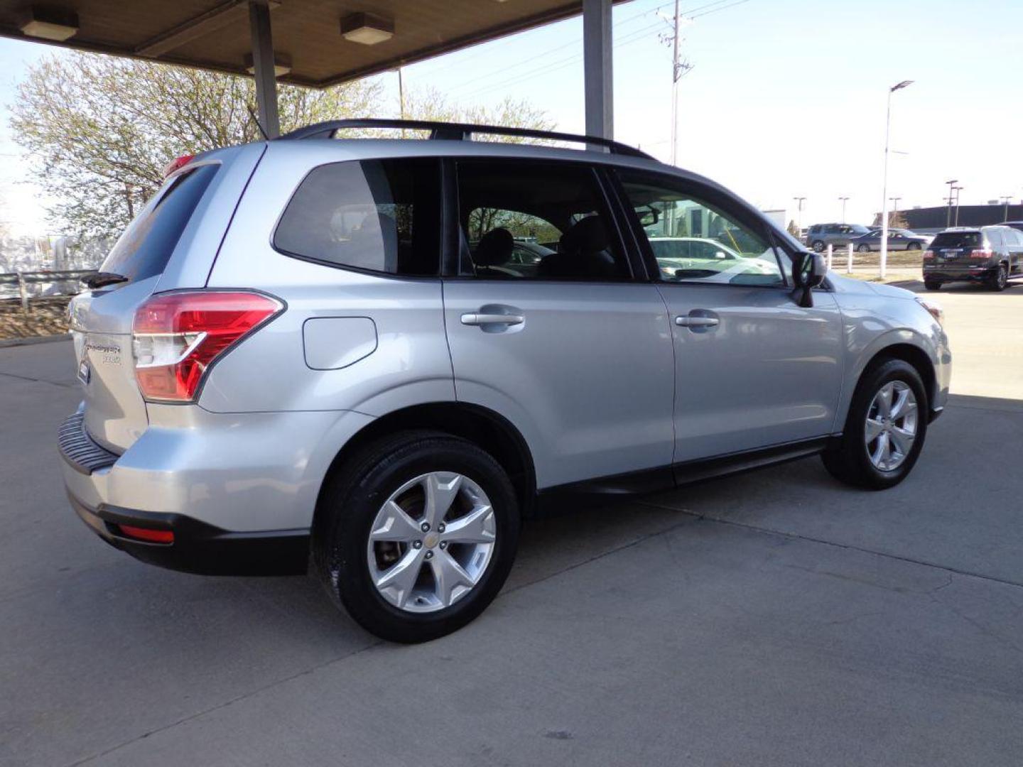
[[[520,161],[462,161],[457,168],[461,274],[566,280],[631,276],[592,168]]]

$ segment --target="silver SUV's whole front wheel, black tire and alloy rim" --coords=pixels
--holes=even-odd
[[[927,415],[927,391],[913,365],[889,359],[868,368],[853,393],[842,437],[821,455],[825,466],[856,487],[898,485],[920,457]]]

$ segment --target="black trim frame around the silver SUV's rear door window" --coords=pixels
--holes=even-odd
[[[501,157],[501,156],[480,156],[480,155],[457,155],[449,156],[444,159],[444,164],[450,167],[450,179],[453,189],[448,196],[445,196],[445,229],[449,232],[451,237],[450,246],[453,253],[445,254],[445,265],[442,276],[444,279],[452,280],[473,280],[476,282],[495,282],[503,285],[518,285],[518,284],[554,284],[554,285],[631,285],[637,282],[646,282],[646,280],[640,273],[637,273],[637,266],[639,266],[636,260],[633,258],[633,250],[628,246],[625,238],[625,233],[622,230],[622,221],[620,213],[617,211],[618,205],[608,188],[605,178],[602,174],[603,165],[593,163],[592,161],[580,159],[580,160],[561,160],[561,159],[548,159],[548,157],[538,157],[538,159],[528,159],[523,160],[520,157]],[[544,277],[525,277],[522,279],[501,279],[499,277],[481,277],[476,274],[460,274],[460,247],[459,247],[459,229],[461,227],[461,222],[459,221],[459,215],[461,213],[461,196],[460,188],[458,185],[458,164],[459,163],[505,163],[516,168],[521,168],[523,165],[543,165],[543,166],[582,166],[587,169],[590,176],[593,178],[594,186],[597,190],[597,201],[603,202],[605,210],[608,214],[610,230],[608,232],[609,237],[617,243],[619,253],[622,255],[625,263],[629,268],[629,276],[623,277],[621,279],[555,279],[555,278],[544,278]]]

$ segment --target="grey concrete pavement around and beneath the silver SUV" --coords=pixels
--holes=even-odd
[[[0,349],[0,764],[1019,765],[1023,285],[929,297],[954,396],[905,483],[814,458],[534,522],[417,646],[101,543],[58,475],[70,343]]]

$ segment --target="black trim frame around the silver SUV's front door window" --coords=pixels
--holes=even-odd
[[[777,254],[774,255],[774,260],[777,261],[777,268],[782,274],[782,282],[774,285],[757,285],[757,284],[743,284],[735,285],[730,282],[712,282],[712,281],[702,281],[702,280],[666,280],[661,278],[660,267],[657,264],[657,257],[654,255],[654,249],[650,245],[650,239],[647,237],[647,233],[643,231],[642,226],[639,224],[639,219],[635,215],[635,209],[631,206],[629,201],[628,193],[625,191],[625,185],[621,179],[621,171],[647,174],[652,178],[656,179],[666,179],[665,183],[680,185],[680,191],[685,194],[690,194],[690,188],[695,190],[693,196],[697,199],[705,200],[710,205],[718,208],[728,216],[732,216],[737,223],[743,226],[748,226],[753,230],[755,234],[762,236],[775,252],[782,251],[789,257],[790,262],[794,259],[795,254],[791,252],[789,247],[785,246],[785,241],[775,235],[773,227],[769,222],[762,219],[761,217],[753,214],[749,208],[744,206],[737,198],[714,189],[706,184],[702,184],[699,181],[685,178],[684,176],[676,176],[672,173],[665,173],[659,170],[649,170],[646,168],[620,168],[615,167],[612,169],[614,172],[611,174],[618,190],[618,195],[621,200],[621,206],[624,209],[624,215],[628,218],[630,229],[632,230],[632,236],[637,241],[639,253],[642,254],[643,262],[647,270],[651,272],[651,281],[656,282],[659,285],[718,285],[720,287],[754,287],[758,289],[769,289],[769,290],[791,290],[792,285],[792,275],[786,272],[782,260],[779,258]]]

